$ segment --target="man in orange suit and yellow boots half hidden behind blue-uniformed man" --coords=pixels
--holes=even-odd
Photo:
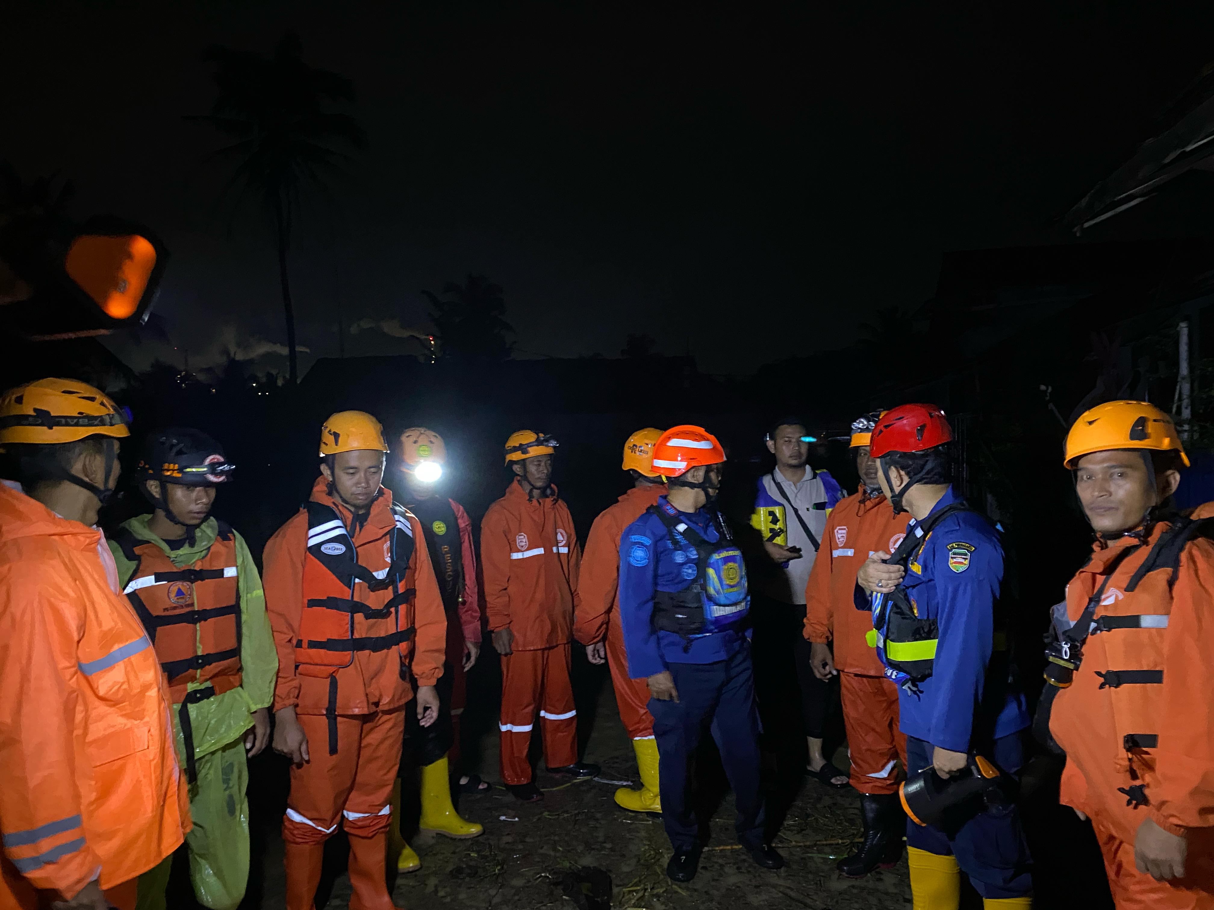
[[[589,645],[590,661],[601,664],[606,659],[611,669],[619,717],[632,739],[636,767],[641,773],[641,789],[622,786],[615,791],[615,803],[632,812],[662,812],[662,801],[658,798],[658,745],[653,739],[653,715],[646,707],[649,689],[643,679],[630,679],[628,676],[617,597],[619,539],[624,528],[640,518],[646,508],[657,505],[658,497],[665,493],[663,477],[653,467],[653,445],[660,437],[660,430],[647,427],[637,430],[624,443],[622,467],[629,473],[632,487],[590,525],[586,552],[582,557],[579,603],[573,626],[577,639]]]

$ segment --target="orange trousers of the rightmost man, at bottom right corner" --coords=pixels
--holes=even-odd
[[[1133,843],[1091,821],[1117,910],[1214,910],[1214,829],[1191,829],[1185,877],[1157,882],[1134,865]]]

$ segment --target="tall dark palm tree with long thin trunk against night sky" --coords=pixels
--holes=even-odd
[[[238,203],[255,197],[274,232],[291,383],[299,379],[299,370],[287,252],[304,189],[327,189],[327,180],[351,160],[341,146],[367,148],[367,133],[358,121],[330,109],[353,103],[353,83],[328,69],[310,67],[301,50],[295,33],[283,35],[268,58],[211,47],[205,59],[217,64],[219,95],[209,115],[188,118],[208,123],[234,140],[216,153],[236,161],[228,189],[237,193]]]

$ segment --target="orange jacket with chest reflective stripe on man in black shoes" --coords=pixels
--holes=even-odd
[[[582,547],[556,487],[528,499],[517,482],[481,522],[481,568],[489,629],[507,626],[515,650],[566,644],[573,637]]]

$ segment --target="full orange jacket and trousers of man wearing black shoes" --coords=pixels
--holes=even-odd
[[[528,499],[512,482],[481,522],[481,571],[489,630],[510,629],[501,658],[501,778],[532,779],[527,749],[539,707],[544,761],[550,768],[578,761],[578,712],[569,684],[573,610],[582,547],[569,508],[556,487]]]

